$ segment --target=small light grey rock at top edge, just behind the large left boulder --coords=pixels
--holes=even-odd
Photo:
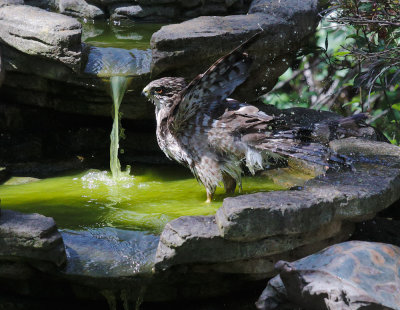
[[[74,17],[84,17],[88,19],[103,19],[104,12],[98,7],[88,4],[84,0],[60,0],[60,13]]]

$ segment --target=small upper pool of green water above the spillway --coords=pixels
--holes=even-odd
[[[97,47],[116,47],[146,50],[150,38],[163,24],[137,24],[126,21],[115,25],[108,21],[82,23],[83,41]]]

